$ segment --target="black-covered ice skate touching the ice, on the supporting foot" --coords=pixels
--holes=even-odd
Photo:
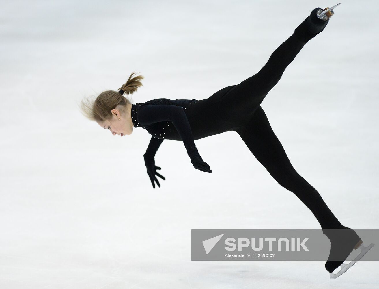
[[[330,253],[329,258],[325,263],[326,270],[329,271],[330,278],[337,278],[346,272],[352,265],[354,265],[360,258],[363,257],[374,244],[367,247],[363,245],[363,241],[357,233],[348,227],[342,226],[336,230],[324,230],[324,234],[330,239]],[[359,255],[353,261],[345,264],[344,262],[348,256],[355,250],[360,249]],[[333,273],[338,267],[341,269]]]

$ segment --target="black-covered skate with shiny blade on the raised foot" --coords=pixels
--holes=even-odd
[[[302,42],[308,42],[310,39],[318,35],[324,30],[329,22],[329,18],[333,16],[333,8],[341,3],[329,8],[321,9],[319,7],[312,10],[310,15],[295,29],[295,35]]]

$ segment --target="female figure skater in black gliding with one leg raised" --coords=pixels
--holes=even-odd
[[[132,73],[118,92],[105,91],[94,102],[82,101],[81,108],[89,119],[113,135],[130,135],[134,127],[143,127],[152,135],[144,160],[153,188],[155,182],[160,187],[157,176],[165,179],[157,172],[161,168],[154,161],[163,140],[183,141],[194,168],[212,173],[197,151],[194,140],[231,130],[237,132],[271,176],[298,196],[315,215],[330,239],[331,250],[325,267],[331,273],[362,241],[354,230],[341,225],[315,188],[296,172],[260,106],[302,47],[326,27],[332,14],[321,17],[320,11],[321,8],[313,9],[257,74],[238,85],[222,88],[207,99],[158,98],[131,104],[123,94],[135,92],[143,79],[143,76],[132,78]],[[347,233],[336,235],[329,229],[346,229],[344,232]],[[342,247],[343,250],[336,251]],[[343,261],[333,261],[336,254]]]

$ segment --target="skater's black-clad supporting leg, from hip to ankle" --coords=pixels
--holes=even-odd
[[[257,108],[246,126],[236,131],[271,176],[280,185],[293,192],[312,211],[322,229],[340,228],[341,223],[320,194],[291,165],[262,107]]]

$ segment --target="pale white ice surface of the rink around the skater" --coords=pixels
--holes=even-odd
[[[78,108],[133,71],[133,103],[205,99],[337,3],[2,1],[0,288],[377,288],[377,261],[336,280],[322,261],[191,261],[191,229],[320,226],[235,132],[195,141],[212,174],[165,140],[153,189],[149,133],[113,136]],[[353,229],[379,229],[378,8],[343,1],[262,102],[294,168]]]

